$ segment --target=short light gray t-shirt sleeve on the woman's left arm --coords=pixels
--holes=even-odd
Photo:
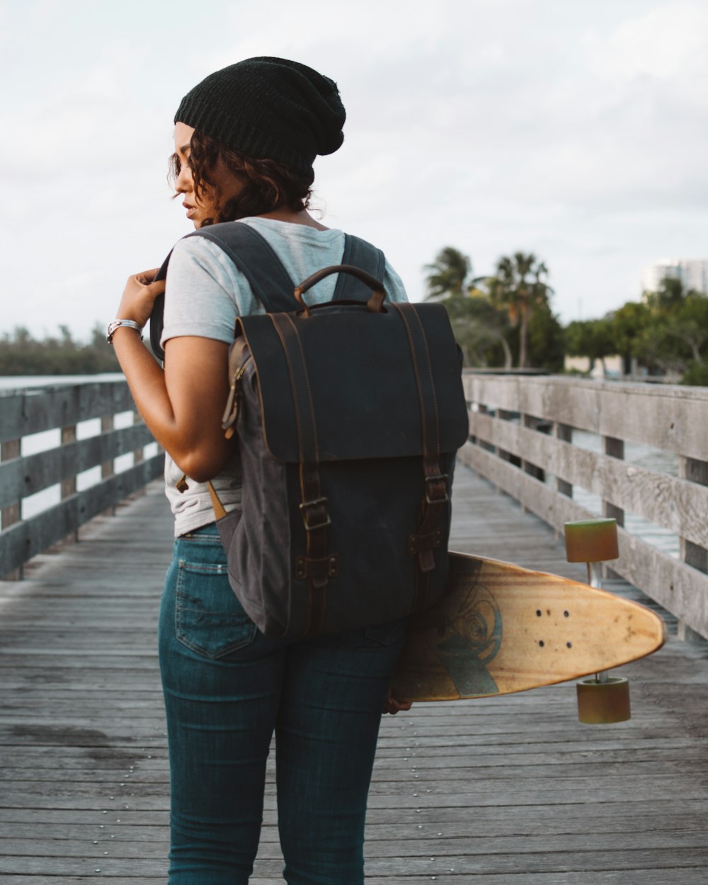
[[[167,268],[160,342],[196,335],[230,343],[236,317],[259,312],[254,302],[248,282],[219,246],[187,237],[175,245]]]

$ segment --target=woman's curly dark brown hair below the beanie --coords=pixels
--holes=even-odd
[[[223,205],[219,188],[211,177],[219,160],[243,185],[239,193]],[[204,221],[204,224],[250,218],[283,206],[293,212],[302,212],[310,205],[314,181],[312,174],[296,173],[275,160],[246,157],[210,135],[201,132],[192,134],[187,162],[192,170],[196,198],[208,194],[215,198],[218,207],[216,217]],[[181,159],[173,154],[169,164],[169,180],[174,186],[180,174]]]

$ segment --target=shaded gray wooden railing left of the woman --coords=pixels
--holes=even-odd
[[[156,444],[134,410],[125,381],[0,392],[0,577],[18,577],[29,558],[162,472],[164,456],[144,457],[145,446]],[[115,426],[126,418],[129,426]],[[100,432],[79,438],[91,420]],[[56,437],[50,447],[27,454],[28,437],[47,431]],[[132,463],[117,472],[115,458],[126,455]],[[100,476],[77,490],[77,477],[92,468]],[[57,486],[57,504],[22,519],[29,496]]]

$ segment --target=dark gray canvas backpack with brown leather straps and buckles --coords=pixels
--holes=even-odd
[[[194,235],[227,252],[267,311],[236,319],[229,350],[222,427],[240,452],[242,507],[214,500],[244,610],[264,634],[295,638],[434,604],[468,434],[445,308],[388,302],[383,254],[356,237],[344,264],[296,287],[252,227]],[[331,273],[333,301],[309,307]]]

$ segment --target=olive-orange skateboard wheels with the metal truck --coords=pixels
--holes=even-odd
[[[590,587],[602,589],[603,562],[619,556],[616,519],[566,522],[566,558],[568,562],[587,564]],[[605,670],[582,679],[577,689],[581,722],[605,725],[630,719],[629,682],[624,677],[611,676]]]

